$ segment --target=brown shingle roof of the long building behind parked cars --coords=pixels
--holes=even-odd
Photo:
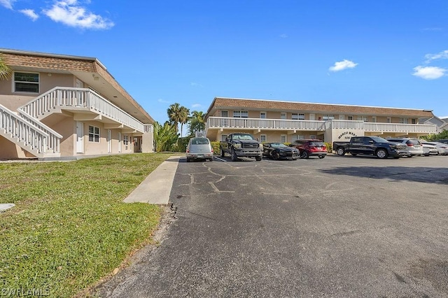
[[[215,97],[207,111],[207,117],[218,109],[247,109],[258,111],[301,111],[309,113],[344,113],[353,115],[387,115],[406,117],[433,117],[433,112],[412,108],[386,108],[379,106],[351,106],[342,104],[316,104],[297,101],[275,101],[265,99],[238,99]]]

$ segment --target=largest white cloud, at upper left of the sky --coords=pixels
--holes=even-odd
[[[101,15],[95,15],[79,6],[77,0],[56,1],[52,8],[43,10],[43,13],[51,20],[62,22],[70,27],[109,29],[114,25],[113,22]]]

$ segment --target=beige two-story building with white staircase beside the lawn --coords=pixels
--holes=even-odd
[[[154,120],[98,59],[0,48],[0,158],[153,152]]]

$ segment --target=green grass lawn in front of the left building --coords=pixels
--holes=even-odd
[[[0,295],[71,297],[151,241],[161,208],[122,201],[171,155],[0,164]]]

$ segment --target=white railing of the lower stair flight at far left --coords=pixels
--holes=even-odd
[[[0,134],[36,157],[47,153],[49,135],[1,104]]]

